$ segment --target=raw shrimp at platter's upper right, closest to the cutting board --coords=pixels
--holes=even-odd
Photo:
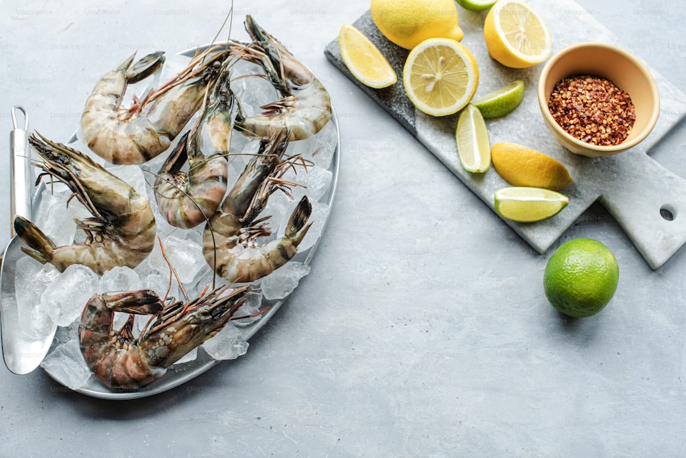
[[[259,64],[283,98],[262,106],[261,115],[237,121],[236,127],[248,136],[263,138],[272,138],[285,128],[292,141],[319,132],[331,119],[331,99],[322,83],[249,15],[246,30],[252,45],[235,45],[233,51]]]

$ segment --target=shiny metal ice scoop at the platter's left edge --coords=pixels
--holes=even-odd
[[[24,127],[16,123],[16,112],[24,115]],[[21,106],[12,108],[13,130],[10,132],[10,196],[12,202],[11,221],[14,215],[30,218],[32,215],[32,198],[34,181],[27,145],[29,117]],[[20,326],[19,307],[14,288],[16,261],[23,256],[21,240],[14,234],[2,256],[0,267],[0,330],[2,333],[2,354],[5,365],[14,374],[28,374],[43,361],[55,335],[56,326],[46,333],[35,333]]]

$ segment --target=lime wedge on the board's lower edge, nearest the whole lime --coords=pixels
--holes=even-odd
[[[549,189],[515,186],[495,191],[495,212],[519,223],[548,219],[560,213],[567,204],[566,195]]]

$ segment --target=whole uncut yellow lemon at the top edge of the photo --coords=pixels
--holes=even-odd
[[[383,36],[405,49],[428,38],[464,36],[454,0],[371,0],[370,11]]]

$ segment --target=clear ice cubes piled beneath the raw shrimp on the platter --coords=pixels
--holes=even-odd
[[[275,97],[270,85],[256,84],[255,81],[263,82],[261,78],[236,80],[233,89],[244,106],[259,106]],[[259,88],[253,90],[253,85]],[[246,101],[249,101],[249,104],[246,104]],[[193,121],[191,120],[189,125]],[[231,180],[235,180],[243,170],[250,154],[257,149],[255,140],[240,134],[235,134],[233,139],[230,155],[230,185]],[[88,147],[80,141],[71,143],[69,146],[88,153]],[[298,247],[298,252],[306,253],[318,241],[329,215],[329,205],[325,197],[332,186],[331,165],[337,146],[338,127],[333,122],[329,122],[316,136],[289,144],[287,155],[299,154],[305,160],[307,167],[294,167],[283,177],[285,180],[292,180],[302,185],[292,188],[292,199],[283,193],[275,193],[270,197],[262,215],[272,215],[269,220],[272,229],[271,238],[283,237],[283,226],[300,197],[307,195],[313,206],[310,221],[314,224]],[[234,155],[234,153],[237,154]],[[191,298],[198,296],[206,285],[212,284],[214,278],[212,269],[202,256],[204,225],[190,230],[181,230],[169,225],[158,213],[154,191],[150,186],[154,182],[154,173],[161,167],[166,154],[161,154],[140,167],[137,165],[111,166],[95,155],[90,155],[96,162],[128,182],[139,193],[147,195],[155,213],[158,235],[161,237],[167,258],[171,265],[182,267],[176,269],[176,272],[188,296]],[[70,195],[71,191],[66,186],[49,184],[45,186],[40,198],[36,200],[38,207],[34,208],[33,221],[58,246],[83,241],[84,235],[73,220],[91,216],[75,199],[71,200],[67,206]],[[69,210],[65,211],[65,207]],[[262,243],[266,241],[261,240]],[[299,259],[305,259],[305,256],[300,256]],[[257,280],[254,287],[257,294],[249,296],[248,302],[238,315],[255,313],[263,305],[262,300],[276,301],[287,297],[297,287],[300,278],[308,273],[309,265],[294,260],[269,276]],[[222,281],[221,278],[217,280]],[[60,273],[52,265],[41,265],[28,256],[21,258],[16,266],[16,299],[19,304],[22,329],[35,335],[45,335],[54,326],[59,326],[53,346],[43,361],[42,367],[53,378],[71,389],[79,389],[91,383],[91,372],[84,363],[78,343],[80,315],[88,299],[95,293],[141,288],[154,289],[163,296],[169,285],[169,265],[163,258],[159,245],[156,245],[150,256],[136,268],[115,267],[102,276],[98,276],[88,267],[81,265],[72,265]],[[175,279],[171,280],[169,296],[182,298]],[[126,315],[121,315],[115,318],[115,327],[121,326],[126,321]],[[137,317],[135,328],[140,331],[148,319],[149,317]],[[250,326],[250,322],[257,320],[259,317],[230,323],[221,333],[204,343],[204,350],[217,360],[241,356],[248,348],[248,343],[243,337],[246,326]],[[182,370],[183,363],[192,361],[195,355],[196,352],[193,351],[178,361],[175,365],[176,369]]]

